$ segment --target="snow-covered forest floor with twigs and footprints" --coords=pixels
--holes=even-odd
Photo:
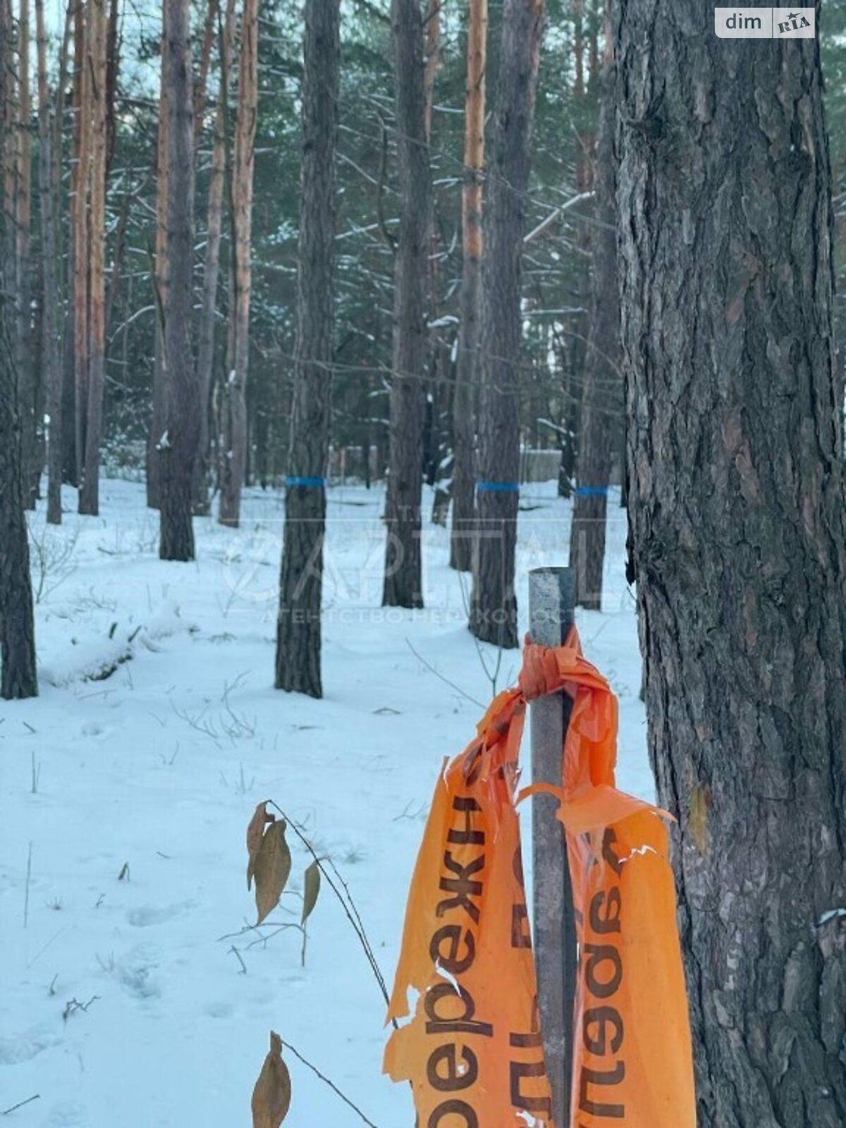
[[[411,1128],[408,1089],[381,1075],[382,998],[338,904],[324,888],[305,968],[296,928],[247,931],[244,835],[264,799],[302,823],[390,981],[438,768],[472,737],[496,669],[465,628],[446,530],[426,530],[425,610],[386,611],[382,494],[331,492],[316,702],[272,688],[276,494],[248,492],[239,530],[197,520],[196,564],[159,562],[142,486],[103,483],[99,518],[74,500],[61,529],[33,519],[42,696],[0,703],[0,1113],[38,1094],[9,1128],[246,1125],[274,1029],[378,1128]],[[552,484],[522,505],[525,622],[528,570],[566,563],[570,510]],[[608,525],[605,609],[579,626],[619,695],[619,785],[651,797],[616,505]],[[518,663],[504,654],[497,688]],[[299,922],[309,861],[290,837],[277,924]],[[287,1058],[287,1125],[361,1123]]]

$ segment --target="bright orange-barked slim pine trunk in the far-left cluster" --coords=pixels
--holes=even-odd
[[[79,512],[99,512],[103,389],[106,365],[106,0],[89,0],[90,60],[90,193],[88,215],[88,380],[85,412],[85,470],[79,486]]]

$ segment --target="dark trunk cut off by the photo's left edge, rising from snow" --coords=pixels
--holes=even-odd
[[[0,0],[0,176],[10,159],[9,7]],[[15,231],[8,206],[0,213],[0,696],[34,697],[33,591],[24,515],[24,466],[18,380],[15,370]]]

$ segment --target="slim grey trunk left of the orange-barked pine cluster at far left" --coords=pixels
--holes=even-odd
[[[2,0],[0,0],[2,2]],[[53,195],[53,122],[47,86],[47,33],[44,0],[35,0],[38,46],[38,188],[44,291],[42,302],[42,363],[47,389],[47,521],[62,523],[62,369],[59,355],[59,283],[56,279],[56,217]]]

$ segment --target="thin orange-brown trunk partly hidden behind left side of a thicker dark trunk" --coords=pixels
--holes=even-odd
[[[169,5],[162,0],[161,10],[161,80],[159,82],[159,135],[156,149],[156,170],[158,191],[156,195],[156,263],[153,268],[153,290],[156,303],[156,331],[153,335],[152,360],[152,417],[150,422],[150,442],[147,451],[147,504],[159,509],[161,504],[161,459],[159,458],[161,442],[165,437],[167,416],[167,371],[165,364],[165,311],[168,306],[169,264],[168,264],[168,199],[170,166],[168,164],[168,120],[171,92],[167,83],[167,20]]]

